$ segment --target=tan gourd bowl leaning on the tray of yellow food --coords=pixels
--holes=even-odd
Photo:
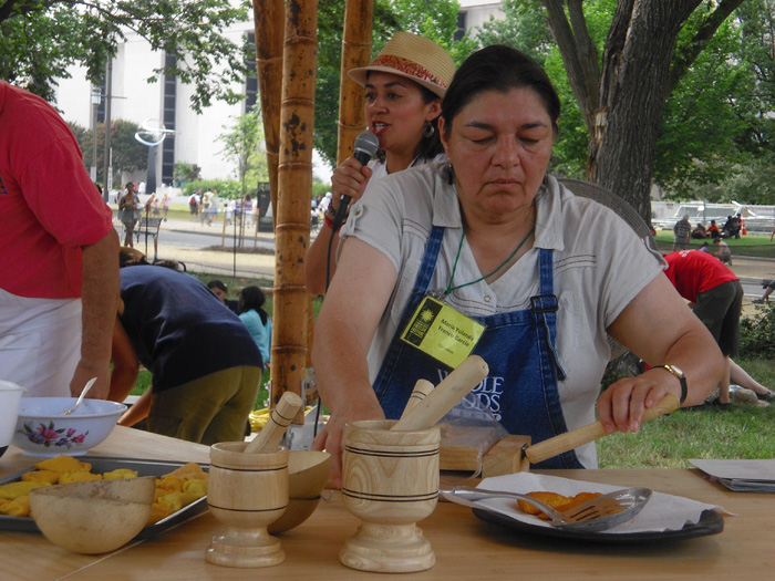
[[[43,486],[30,491],[30,507],[51,542],[96,554],[122,547],[143,530],[155,490],[153,477]]]

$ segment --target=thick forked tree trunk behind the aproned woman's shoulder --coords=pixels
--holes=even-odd
[[[722,0],[714,7],[671,72],[679,32],[702,0],[619,0],[596,76],[597,53],[589,48],[581,0],[541,0],[589,131],[587,179],[621,196],[647,224],[664,102],[699,46],[742,2]],[[596,77],[599,87],[590,83]]]

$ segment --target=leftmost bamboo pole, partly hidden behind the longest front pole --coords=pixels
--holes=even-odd
[[[252,0],[256,28],[256,69],[261,98],[261,120],[267,148],[269,197],[277,208],[277,166],[280,155],[280,95],[282,93],[282,31],[285,6],[282,0]],[[277,212],[272,212],[277,225]],[[256,227],[258,231],[258,226]]]

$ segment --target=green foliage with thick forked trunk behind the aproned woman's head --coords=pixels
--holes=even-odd
[[[485,27],[479,40],[518,43],[552,76],[564,104],[556,167],[572,175],[586,137],[586,177],[648,219],[654,180],[674,191],[719,183],[746,155],[764,157],[765,112],[773,110],[752,102],[762,82],[748,56],[753,45],[772,51],[772,28],[767,37],[761,24],[769,4],[506,0],[507,22]]]

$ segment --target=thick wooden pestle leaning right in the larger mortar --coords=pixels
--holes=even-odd
[[[468,356],[457,369],[433,388],[422,401],[404,412],[390,428],[393,432],[414,432],[436,425],[444,415],[455,407],[489,373],[489,367],[478,355]]]

